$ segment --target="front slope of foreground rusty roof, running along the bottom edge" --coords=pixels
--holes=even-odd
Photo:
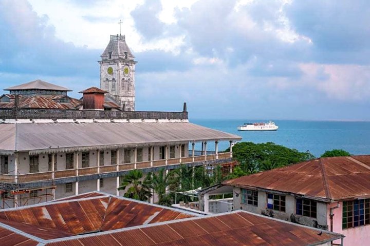
[[[178,221],[124,229],[109,233],[84,235],[73,239],[50,241],[48,246],[149,246],[149,245],[317,245],[342,238],[322,231],[248,212],[231,212],[216,216],[195,217]]]

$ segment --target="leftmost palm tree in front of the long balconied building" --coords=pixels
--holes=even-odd
[[[141,170],[131,170],[127,175],[123,176],[121,186],[118,190],[125,190],[127,186],[130,188],[124,193],[124,197],[132,198],[141,201],[147,201],[152,197],[152,180],[151,175],[148,174],[143,181]]]

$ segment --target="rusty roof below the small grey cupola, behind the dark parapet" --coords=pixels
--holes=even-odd
[[[7,95],[7,94],[5,94]],[[69,103],[61,103],[60,99],[67,97]],[[8,103],[0,103],[0,109],[15,108],[14,95],[9,95]],[[20,95],[19,107],[24,109],[75,109],[82,103],[81,100],[66,95]]]

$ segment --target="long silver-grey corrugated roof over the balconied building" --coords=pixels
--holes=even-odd
[[[40,150],[53,152],[55,149],[70,151],[70,148],[88,150],[99,146],[123,148],[162,142],[242,139],[189,122],[0,124],[0,133],[0,151],[35,153]]]

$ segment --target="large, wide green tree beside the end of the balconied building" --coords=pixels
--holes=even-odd
[[[309,152],[275,145],[273,142],[239,142],[233,147],[233,158],[241,164],[244,172],[255,173],[313,159],[315,156]]]

